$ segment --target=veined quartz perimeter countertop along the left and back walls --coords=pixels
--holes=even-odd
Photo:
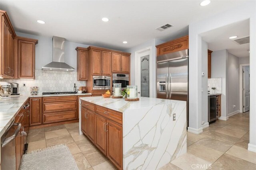
[[[52,97],[52,96],[80,96],[91,95],[91,93],[82,94],[59,94],[59,95],[17,95],[11,96],[8,99],[0,100],[0,137],[4,134],[10,123],[14,120],[15,116],[20,111],[20,107],[24,105],[28,98],[36,97]]]

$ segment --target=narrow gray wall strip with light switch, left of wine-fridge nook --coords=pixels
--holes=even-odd
[[[208,44],[202,40],[202,121],[208,122]]]

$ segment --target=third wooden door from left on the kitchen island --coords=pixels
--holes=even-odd
[[[106,155],[106,119],[100,115],[95,116],[95,145]]]

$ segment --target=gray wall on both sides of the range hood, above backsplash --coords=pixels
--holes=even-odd
[[[52,37],[30,35],[16,32],[17,36],[38,39],[36,45],[36,70],[52,62]],[[65,41],[65,63],[76,69],[76,47],[88,47],[89,45]],[[76,72],[76,70],[74,71]]]

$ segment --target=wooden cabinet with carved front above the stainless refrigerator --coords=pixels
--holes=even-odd
[[[188,49],[188,35],[156,46],[156,56]]]

